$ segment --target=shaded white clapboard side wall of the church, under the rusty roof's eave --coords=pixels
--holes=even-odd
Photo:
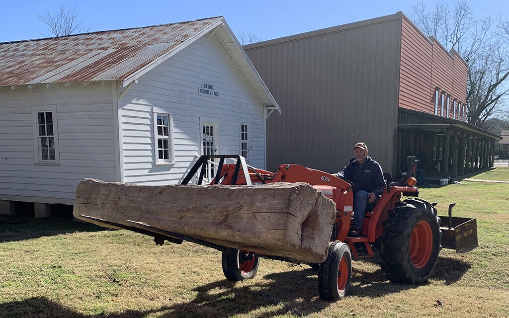
[[[112,93],[111,82],[0,90],[0,199],[73,204],[82,179],[116,181]],[[60,164],[35,163],[32,107],[44,105],[56,106]]]

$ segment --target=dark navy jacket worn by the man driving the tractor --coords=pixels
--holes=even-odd
[[[359,165],[359,162],[353,157],[342,172],[338,172],[338,174],[342,174],[345,179],[353,183],[354,196],[360,190],[373,192],[379,196],[387,188],[383,179],[382,167],[369,156],[366,156],[366,161],[362,165]]]

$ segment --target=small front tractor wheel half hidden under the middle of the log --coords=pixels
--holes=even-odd
[[[228,280],[250,279],[258,271],[260,257],[248,251],[228,248],[222,252],[221,265],[224,277]]]

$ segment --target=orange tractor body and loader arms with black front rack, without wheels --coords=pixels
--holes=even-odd
[[[348,244],[355,259],[373,256],[371,244],[383,232],[382,223],[388,217],[388,211],[393,210],[400,202],[404,193],[406,196],[418,196],[419,190],[415,187],[416,158],[409,157],[409,172],[399,183],[390,183],[384,190],[372,212],[364,215],[362,236],[348,237],[353,211],[353,184],[348,180],[328,174],[316,169],[306,168],[298,164],[282,164],[275,174],[270,171],[250,167],[242,163],[242,157],[236,164],[223,164],[225,156],[205,156],[209,159],[219,158],[219,168],[214,180],[210,184],[251,185],[274,182],[307,182],[326,197],[332,199],[336,205],[336,220],[333,226],[331,242],[342,241]],[[239,156],[226,156],[239,157]],[[205,160],[205,159],[204,159]],[[206,162],[206,161],[204,161]],[[240,163],[240,164],[239,164]],[[244,168],[248,171],[244,172]],[[204,169],[202,168],[202,171]],[[242,173],[241,173],[242,172]],[[188,175],[189,176],[189,175]],[[203,178],[202,178],[203,180]],[[247,180],[247,182],[246,182]],[[200,184],[200,183],[199,183]],[[366,254],[359,255],[354,243],[363,243]],[[357,245],[358,246],[358,245]],[[261,253],[260,253],[261,254]]]

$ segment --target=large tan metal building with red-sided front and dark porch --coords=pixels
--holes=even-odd
[[[420,150],[432,158],[426,170],[444,176],[493,160],[500,137],[465,123],[467,64],[402,12],[244,50],[282,109],[267,120],[270,170],[297,163],[336,172],[358,141],[392,174],[404,171],[405,156]],[[466,152],[472,139],[475,167]],[[455,148],[460,143],[463,152]]]

